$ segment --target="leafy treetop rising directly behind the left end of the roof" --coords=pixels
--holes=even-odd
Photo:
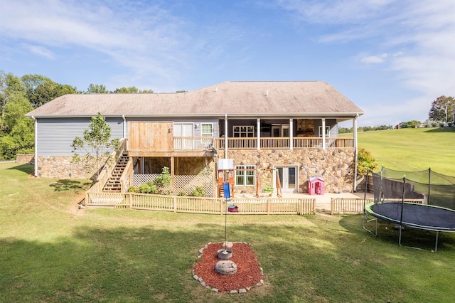
[[[76,87],[55,83],[43,75],[23,75],[21,80],[33,107],[39,107],[56,97],[78,93]]]

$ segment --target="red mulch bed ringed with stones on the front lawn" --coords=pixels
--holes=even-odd
[[[223,243],[210,243],[203,249],[202,260],[194,267],[194,274],[200,277],[206,285],[218,289],[218,292],[229,292],[232,289],[247,289],[262,285],[262,271],[257,262],[255,252],[250,245],[233,243],[232,257],[229,259],[237,264],[234,275],[220,275],[215,272],[218,259],[218,250],[223,248]]]

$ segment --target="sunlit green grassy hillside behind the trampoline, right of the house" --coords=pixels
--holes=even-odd
[[[343,136],[352,137],[352,134]],[[358,133],[358,146],[373,154],[378,168],[418,171],[431,167],[449,176],[455,176],[454,142],[455,127]]]

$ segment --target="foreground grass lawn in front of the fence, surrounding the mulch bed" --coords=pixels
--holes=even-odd
[[[228,216],[228,240],[252,244],[265,285],[222,294],[193,280],[198,250],[224,240],[224,217],[77,210],[87,181],[34,179],[0,164],[0,302],[452,302],[455,234],[439,250],[402,248],[361,216]],[[387,227],[387,229],[386,229]],[[406,230],[429,248],[434,233]],[[235,253],[235,251],[234,251]]]

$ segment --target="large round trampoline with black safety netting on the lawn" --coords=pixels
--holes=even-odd
[[[401,173],[410,174],[410,172]],[[395,223],[399,225],[397,229],[400,230],[398,240],[400,245],[402,245],[402,230],[405,226],[434,231],[436,232],[434,252],[436,252],[439,233],[455,232],[455,184],[453,184],[453,179],[451,179],[454,177],[446,176],[447,178],[444,178],[444,182],[439,180],[436,184],[432,184],[431,170],[429,170],[428,176],[424,176],[427,183],[422,184],[406,178],[390,178],[392,174],[396,175],[397,171],[390,172],[382,168],[380,174],[373,173],[375,198],[371,203],[366,204],[365,202],[363,228],[377,236],[378,219]],[[440,174],[438,175],[439,177],[441,176]],[[420,177],[422,179],[422,176]],[[432,194],[430,195],[430,193]],[[368,219],[369,216],[374,218]],[[376,222],[375,232],[365,227],[365,223],[373,220]]]

